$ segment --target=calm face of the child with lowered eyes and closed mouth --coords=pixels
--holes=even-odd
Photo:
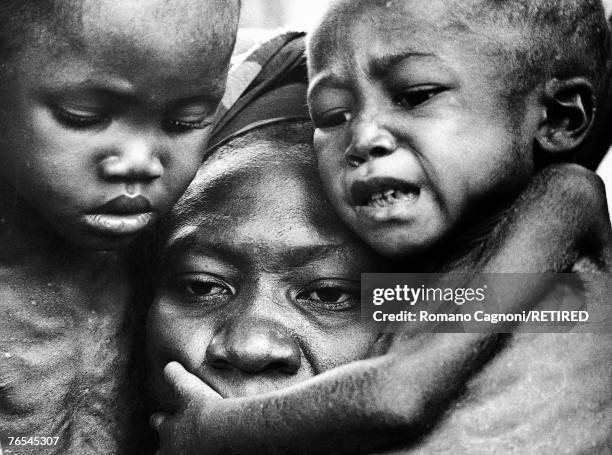
[[[70,241],[124,246],[195,174],[232,42],[211,31],[220,2],[196,4],[90,4],[80,30],[47,32],[3,70],[0,172]]]

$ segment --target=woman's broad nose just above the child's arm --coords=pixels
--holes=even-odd
[[[245,318],[231,321],[215,333],[206,350],[213,368],[244,373],[295,374],[301,363],[296,340],[275,321]]]

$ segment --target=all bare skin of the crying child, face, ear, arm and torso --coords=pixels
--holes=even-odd
[[[354,20],[338,16],[326,24],[327,43],[317,32],[311,37],[314,144],[340,217],[379,253],[414,260],[435,251],[445,236],[452,238],[466,212],[514,201],[484,250],[443,262],[439,270],[588,270],[602,278],[585,283],[590,303],[607,303],[602,272],[609,272],[611,233],[601,183],[574,166],[536,174],[535,164],[584,143],[595,114],[589,109],[593,84],[586,77],[540,81],[524,97],[521,111],[510,112],[514,108],[500,93],[499,62],[487,61],[473,45],[474,36],[462,42],[436,29],[441,16],[452,16],[448,2],[360,4],[368,7]],[[360,193],[359,184],[368,183],[374,190]],[[379,195],[373,191],[387,190],[407,197],[393,196],[401,200],[386,204],[375,200]],[[525,308],[546,284],[525,283],[509,295],[504,310]],[[530,344],[541,347],[530,351],[533,363],[518,370],[508,366]],[[238,400],[219,400],[171,363],[165,374],[176,389],[177,410],[152,422],[161,435],[161,453],[371,453],[390,446],[418,451],[420,443],[456,453],[458,403],[463,421],[473,417],[490,419],[483,427],[491,424],[490,431],[472,430],[473,437],[461,440],[465,453],[478,453],[496,436],[503,436],[500,451],[511,445],[528,453],[543,443],[559,453],[568,441],[574,452],[605,451],[612,384],[600,362],[610,363],[607,336],[399,336],[385,352],[282,392]],[[547,374],[537,365],[549,359],[570,364]],[[515,371],[518,377],[511,377]],[[604,379],[593,380],[598,376],[592,371]],[[492,413],[478,405],[496,400],[508,405],[531,382],[550,389],[562,377],[566,390],[578,389],[582,399],[564,397],[556,408],[549,405],[549,414],[529,414],[523,432],[509,432],[520,426],[519,413]],[[501,393],[506,385],[509,395]],[[466,391],[469,399],[461,401]],[[545,404],[535,400],[535,408]],[[558,424],[550,428],[553,422]],[[572,425],[581,429],[578,435],[569,431]]]

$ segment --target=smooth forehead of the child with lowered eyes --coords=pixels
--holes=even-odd
[[[218,102],[238,13],[221,3],[71,0],[70,11],[30,24],[11,68],[38,74],[35,83],[45,89],[78,86],[85,93],[115,81],[129,89],[123,93],[158,104],[196,96]]]

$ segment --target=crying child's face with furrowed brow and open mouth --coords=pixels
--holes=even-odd
[[[313,38],[309,103],[324,186],[385,255],[431,246],[532,172],[533,112],[513,117],[493,59],[469,35],[439,29],[446,9],[387,2]]]

